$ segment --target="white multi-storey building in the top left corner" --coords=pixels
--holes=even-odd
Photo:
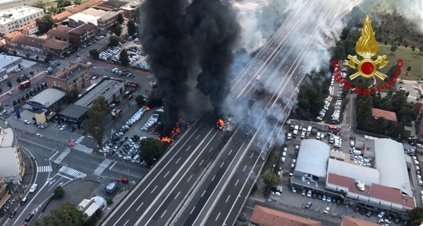
[[[0,11],[0,35],[7,35],[44,15],[42,8],[18,6]]]

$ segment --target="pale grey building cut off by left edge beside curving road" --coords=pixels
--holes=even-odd
[[[10,127],[0,128],[0,142],[0,177],[6,183],[22,182],[25,166],[18,139]]]

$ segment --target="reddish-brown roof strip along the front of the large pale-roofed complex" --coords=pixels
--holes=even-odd
[[[328,173],[326,179],[326,186],[336,186],[341,190],[346,189],[351,196],[367,196],[375,198],[388,203],[396,203],[407,208],[415,208],[415,198],[412,196],[403,195],[399,189],[391,188],[381,184],[372,184],[371,186],[364,186],[364,191],[360,191],[355,186],[355,179],[344,177],[338,174]],[[387,206],[390,206],[389,204]]]

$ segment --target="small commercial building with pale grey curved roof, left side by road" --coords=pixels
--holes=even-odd
[[[66,93],[61,90],[47,88],[42,90],[41,93],[27,100],[25,103],[25,108],[32,110],[41,109],[44,112],[48,112],[49,109],[54,111],[56,107],[59,107],[60,100],[65,95]]]

